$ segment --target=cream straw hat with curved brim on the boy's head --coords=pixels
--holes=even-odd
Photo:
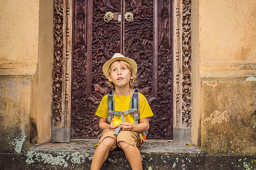
[[[109,59],[109,61],[107,61],[103,67],[102,67],[102,70],[103,70],[103,73],[104,75],[106,76],[106,78],[108,78],[108,71],[109,71],[109,67],[110,65],[114,62],[114,61],[117,61],[117,60],[123,60],[123,61],[127,61],[130,63],[131,67],[133,68],[134,70],[134,74],[137,74],[137,63],[131,59],[131,58],[127,58],[125,56],[123,56],[122,54],[120,53],[115,53],[114,56]]]

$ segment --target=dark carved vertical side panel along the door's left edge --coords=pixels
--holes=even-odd
[[[86,68],[87,68],[87,1],[74,1],[73,24],[73,72],[72,72],[72,113],[71,113],[71,134],[76,135],[76,131],[84,129],[86,120]],[[82,132],[81,132],[82,133]]]

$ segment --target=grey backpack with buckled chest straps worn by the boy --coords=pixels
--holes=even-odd
[[[135,121],[134,124],[138,124],[139,121],[139,91],[134,89],[133,94],[131,94],[131,100],[130,100],[130,109],[127,111],[115,111],[115,104],[114,104],[114,91],[110,91],[107,97],[107,103],[108,103],[108,118],[107,121],[110,124],[112,118],[114,115],[121,115],[122,122],[125,122],[125,118],[123,117],[126,114],[132,114]],[[116,130],[114,135],[118,135],[119,131],[121,129],[121,126],[119,126]],[[138,133],[139,134],[139,133]],[[139,134],[141,136],[141,134]],[[147,131],[142,133],[142,142],[146,142],[145,139],[147,137]]]

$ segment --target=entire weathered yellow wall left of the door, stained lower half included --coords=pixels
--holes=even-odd
[[[24,129],[27,130],[24,141],[23,138],[20,139],[24,144],[21,145],[22,148],[28,147],[29,140],[39,144],[51,139],[52,17],[52,0],[0,1],[0,89],[7,96],[1,98],[0,105],[13,105],[7,99],[16,94],[21,94],[20,97],[24,100],[13,108],[0,108],[0,120],[6,127],[3,130],[8,131],[8,124],[15,124],[16,130],[8,139],[9,143],[20,138],[19,133]],[[15,88],[7,85],[4,87],[4,84],[11,84]],[[26,118],[23,122],[19,121],[17,107],[26,111],[26,115],[22,116]],[[10,119],[11,115],[16,117]],[[5,137],[1,136],[3,138]],[[6,144],[8,146],[2,147],[9,150],[15,147]]]

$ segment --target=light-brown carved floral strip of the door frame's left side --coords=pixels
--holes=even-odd
[[[54,56],[53,56],[53,105],[52,126],[61,125],[63,90],[63,0],[54,1]]]

